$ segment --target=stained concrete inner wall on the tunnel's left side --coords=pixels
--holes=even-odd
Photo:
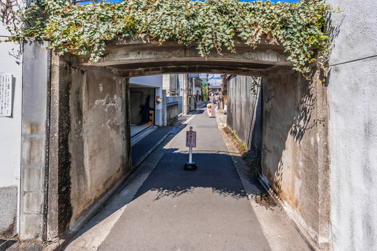
[[[75,226],[131,172],[129,82],[52,55],[47,239]]]

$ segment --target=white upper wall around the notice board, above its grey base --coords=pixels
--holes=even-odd
[[[8,35],[0,23],[0,36]],[[19,52],[18,44],[0,43],[0,73],[12,73],[14,81],[13,116],[0,117],[0,187],[17,185],[20,178],[22,56]]]

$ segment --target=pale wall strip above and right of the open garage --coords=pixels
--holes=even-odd
[[[156,88],[156,96],[163,97],[163,75],[151,75],[142,77],[131,77],[131,84],[140,84],[147,87]],[[156,104],[156,97],[154,97],[155,111],[154,124],[156,126],[163,126],[163,102]]]

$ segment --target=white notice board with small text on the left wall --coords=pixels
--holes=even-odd
[[[12,74],[0,73],[0,116],[12,116]]]

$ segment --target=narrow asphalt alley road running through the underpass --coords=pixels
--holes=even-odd
[[[189,126],[195,171],[183,168]],[[166,141],[66,250],[309,250],[278,206],[253,206],[205,109]]]

